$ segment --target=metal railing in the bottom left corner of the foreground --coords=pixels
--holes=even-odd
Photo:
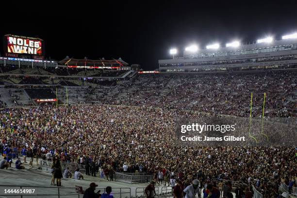
[[[53,190],[53,192],[52,192]],[[61,197],[76,197],[80,198],[82,195],[77,193],[78,187],[59,187],[59,186],[26,186],[26,185],[0,185],[0,197],[10,197],[14,198],[26,198],[36,197],[36,198],[52,198],[53,196],[57,198]],[[56,191],[56,193],[54,193]]]

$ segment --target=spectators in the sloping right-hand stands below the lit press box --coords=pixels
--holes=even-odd
[[[149,75],[118,87],[118,94],[101,99],[105,104],[196,110],[216,114],[249,116],[253,93],[253,116],[296,116],[296,72],[270,71],[250,74]],[[127,96],[118,97],[121,93]]]

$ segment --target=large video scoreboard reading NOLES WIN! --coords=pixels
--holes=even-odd
[[[40,38],[4,35],[4,54],[8,57],[44,59],[44,41]]]

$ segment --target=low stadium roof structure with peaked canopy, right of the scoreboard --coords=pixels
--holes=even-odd
[[[89,60],[89,59],[74,59],[68,58],[58,62],[61,65],[74,68],[120,68],[122,66],[128,66],[128,63],[123,61],[121,58],[112,60]]]

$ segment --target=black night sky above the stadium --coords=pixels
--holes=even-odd
[[[23,1],[1,9],[0,36],[39,37],[46,57],[54,60],[121,57],[150,70],[158,67],[158,59],[171,57],[171,47],[182,56],[193,42],[199,48],[215,41],[224,46],[234,38],[249,43],[297,31],[295,0],[82,2],[27,6]]]

